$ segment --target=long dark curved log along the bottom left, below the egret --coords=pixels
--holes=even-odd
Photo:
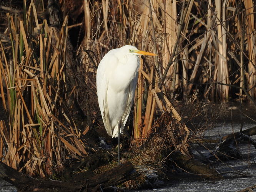
[[[135,179],[137,176],[138,172],[133,168],[133,165],[130,162],[125,162],[111,170],[85,179],[83,182],[42,180],[29,177],[0,162],[0,178],[13,184],[19,191],[98,191],[98,189],[105,187],[120,185],[125,181]]]

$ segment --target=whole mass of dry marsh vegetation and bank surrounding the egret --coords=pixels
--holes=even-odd
[[[232,110],[231,101],[255,121],[243,111],[244,103],[256,107],[255,16],[253,0],[1,2],[0,160],[32,177],[71,179],[72,190],[154,186],[152,175],[164,180],[180,166],[221,178],[191,146],[207,142],[202,134]],[[105,132],[96,97],[99,61],[123,45],[158,55],[141,58],[126,123],[131,138],[121,139],[127,169],[117,166],[116,141]],[[252,130],[233,143],[255,144]],[[228,154],[226,161],[230,156],[237,158]],[[120,179],[108,180],[117,170]],[[62,187],[56,190],[71,190]]]

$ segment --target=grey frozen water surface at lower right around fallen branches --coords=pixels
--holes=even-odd
[[[255,124],[244,124],[244,129],[256,126]],[[205,139],[218,139],[232,132],[240,131],[240,124],[231,124],[223,126],[217,125],[211,130],[204,132]],[[256,139],[256,136],[252,136]],[[203,146],[197,147],[199,152],[208,156],[210,152]],[[213,148],[214,149],[214,148]],[[180,174],[175,179],[170,179],[168,184],[158,189],[132,190],[132,192],[234,192],[256,184],[256,149],[253,145],[241,142],[238,145],[239,151],[243,154],[244,159],[229,160],[213,164],[213,167],[223,174],[223,179],[208,181],[198,179],[191,174]],[[198,152],[194,154],[200,156]],[[255,191],[255,190],[254,190]]]

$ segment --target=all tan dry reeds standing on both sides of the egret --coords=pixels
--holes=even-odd
[[[65,20],[59,36],[46,20],[38,21],[33,1],[28,8],[23,1],[23,18],[7,14],[10,47],[0,41],[0,88],[7,114],[7,121],[0,122],[0,150],[5,150],[0,158],[8,165],[44,177],[62,170],[65,158],[93,151],[65,102],[76,94],[82,101],[78,103],[85,103],[88,122],[103,126],[96,121],[97,65],[109,50],[123,45],[158,55],[141,58],[134,121],[129,124],[134,146],[159,139],[151,133],[171,117],[175,123],[167,126],[164,141],[189,154],[190,130],[173,107],[175,100],[254,102],[253,0],[83,0],[76,12],[75,1],[60,2]],[[71,15],[70,23],[65,13]],[[66,39],[72,28],[79,31],[74,44],[81,64],[76,66],[80,85],[67,93]],[[12,60],[7,60],[5,50]],[[84,133],[88,130],[89,126]]]

